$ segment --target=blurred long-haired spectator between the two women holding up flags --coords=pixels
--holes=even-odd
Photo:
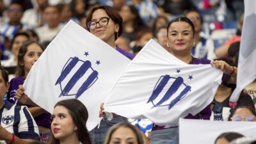
[[[130,41],[136,39],[136,33],[145,28],[145,24],[138,13],[135,6],[124,5],[121,8],[120,15],[123,19],[124,31],[122,35],[128,38]]]

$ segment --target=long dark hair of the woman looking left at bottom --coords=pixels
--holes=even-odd
[[[56,106],[63,106],[68,109],[68,113],[72,116],[72,120],[74,124],[77,126],[77,137],[79,141],[83,144],[91,144],[92,141],[90,139],[90,135],[86,128],[86,122],[88,120],[88,111],[84,104],[77,100],[77,99],[67,99],[67,100],[60,100],[55,104]],[[55,139],[54,136],[51,136],[50,144],[57,144],[60,143],[59,140]]]

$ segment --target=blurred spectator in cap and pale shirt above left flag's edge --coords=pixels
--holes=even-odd
[[[56,6],[47,6],[44,10],[44,20],[46,25],[36,28],[35,31],[39,36],[40,42],[51,41],[63,26],[59,23],[60,13]]]

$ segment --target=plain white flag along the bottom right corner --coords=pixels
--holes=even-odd
[[[223,132],[238,132],[244,136],[255,136],[256,122],[221,122],[211,120],[179,120],[179,143],[214,143]]]

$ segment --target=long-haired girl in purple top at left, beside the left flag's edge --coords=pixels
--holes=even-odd
[[[26,77],[28,76],[29,70],[35,64],[36,60],[40,57],[44,47],[34,41],[26,42],[20,47],[18,54],[18,66],[17,66],[17,76],[10,81],[10,89],[8,91],[8,100],[11,103],[15,103],[15,93],[19,89],[19,85],[23,84]],[[18,102],[18,104],[20,104]],[[36,124],[38,125],[40,132],[40,139],[42,142],[46,143],[49,140],[50,126],[51,126],[51,114],[47,113],[44,109],[36,106],[29,106],[29,111],[35,118]]]

